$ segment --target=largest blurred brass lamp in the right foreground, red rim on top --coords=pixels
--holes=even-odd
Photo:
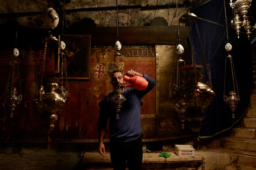
[[[206,84],[202,83],[203,67],[189,65],[180,68],[182,86],[174,92],[172,97],[185,110],[186,120],[193,132],[198,132],[205,118],[204,109],[215,98],[215,92]]]

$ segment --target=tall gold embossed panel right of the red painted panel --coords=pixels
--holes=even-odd
[[[189,128],[182,129],[178,113],[173,109],[175,102],[169,97],[169,84],[177,81],[177,60],[179,55],[175,52],[176,45],[156,45],[156,71],[157,71],[157,116],[156,136],[173,137],[186,135]],[[184,48],[182,59],[190,64],[190,50]]]

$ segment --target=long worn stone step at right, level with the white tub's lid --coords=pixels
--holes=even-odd
[[[226,149],[256,152],[256,139],[225,137],[221,139],[220,144]]]

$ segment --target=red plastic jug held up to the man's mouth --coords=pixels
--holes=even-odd
[[[128,77],[127,75],[124,75],[124,81],[129,82],[131,86],[127,86],[126,82],[124,85],[125,87],[133,87],[137,90],[145,90],[147,89],[148,82],[144,77],[140,76],[134,76],[134,77]]]

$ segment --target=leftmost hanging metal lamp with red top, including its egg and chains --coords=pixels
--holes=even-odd
[[[19,56],[19,50],[17,48],[14,48],[13,50],[13,54],[12,54],[15,58]],[[13,87],[13,79],[14,79],[14,68],[15,68],[15,64],[17,65],[17,69],[18,69],[18,75],[19,75],[19,85],[20,85],[20,95],[18,96],[17,94],[17,89],[16,87]],[[5,103],[8,104],[8,106],[10,107],[11,110],[11,115],[10,117],[13,118],[13,111],[15,110],[15,107],[17,106],[17,104],[19,104],[19,102],[22,100],[22,93],[21,93],[21,82],[20,82],[20,73],[19,73],[19,64],[14,60],[14,62],[11,64],[11,72],[9,75],[9,80],[6,86],[9,86],[10,84],[10,77],[11,77],[11,73],[12,73],[12,78],[11,78],[11,93],[5,97],[4,101]]]

